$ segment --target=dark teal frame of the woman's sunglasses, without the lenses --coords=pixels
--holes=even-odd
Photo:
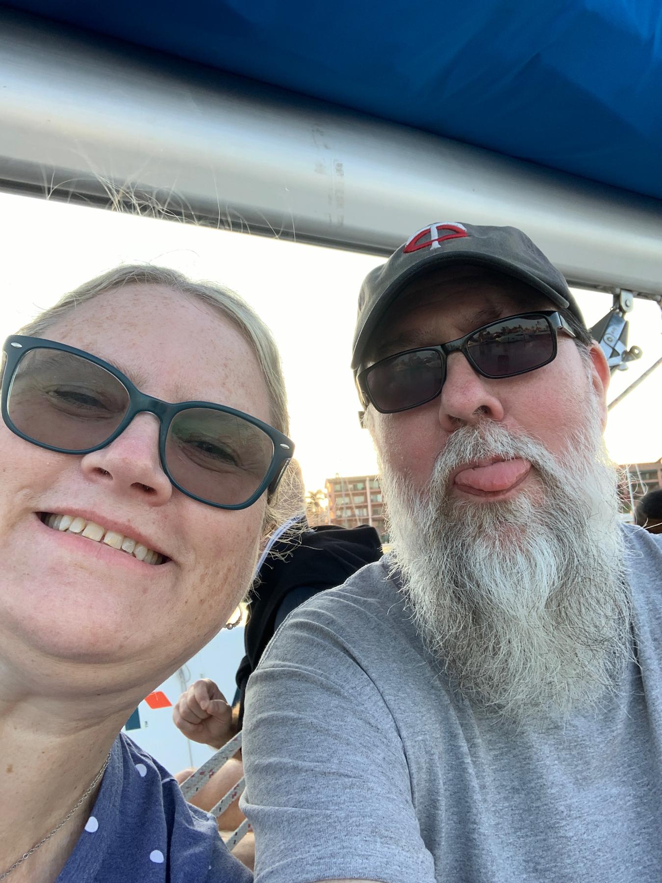
[[[109,374],[112,374],[113,377],[124,386],[124,389],[126,389],[129,396],[129,407],[123,419],[117,426],[117,429],[110,434],[104,442],[94,445],[93,448],[76,450],[57,448],[55,445],[35,441],[29,435],[22,433],[17,426],[14,426],[7,407],[11,390],[11,381],[13,380],[21,358],[25,356],[26,352],[32,350],[56,350],[71,353],[71,355],[78,356],[79,358],[85,358],[88,362],[92,362],[93,365],[102,367]],[[170,402],[163,402],[159,398],[146,396],[144,393],[140,392],[128,377],[122,374],[121,371],[118,371],[115,366],[109,365],[108,362],[104,362],[102,358],[93,356],[92,353],[84,350],[77,350],[75,347],[68,346],[66,343],[57,343],[53,340],[46,340],[43,337],[11,335],[5,340],[3,351],[5,356],[2,386],[2,415],[4,423],[9,429],[11,429],[13,434],[18,435],[19,438],[24,439],[26,442],[36,445],[38,448],[54,450],[59,454],[91,454],[95,450],[107,448],[110,442],[114,442],[115,439],[124,432],[124,429],[129,426],[132,419],[138,414],[144,412],[154,414],[154,417],[159,421],[159,459],[161,461],[162,470],[168,476],[170,483],[173,487],[177,487],[177,490],[181,491],[182,494],[185,494],[198,502],[205,503],[207,506],[214,506],[215,509],[248,509],[249,506],[252,506],[254,502],[260,499],[260,496],[264,494],[266,490],[268,490],[269,495],[274,494],[275,489],[278,487],[278,483],[282,479],[282,475],[294,454],[294,442],[292,442],[287,435],[284,435],[282,432],[279,432],[278,429],[275,429],[274,426],[269,426],[268,423],[264,423],[262,420],[257,419],[257,417],[252,417],[250,414],[244,413],[244,411],[237,411],[235,408],[229,408],[227,405],[215,404],[214,402],[192,401],[172,404]],[[231,505],[205,500],[204,497],[192,494],[191,491],[188,491],[185,487],[179,485],[170,474],[168,463],[166,461],[166,439],[169,427],[177,414],[181,411],[187,411],[190,408],[207,408],[211,411],[223,411],[226,414],[231,414],[234,417],[246,420],[248,423],[252,423],[253,426],[257,426],[261,429],[262,432],[273,442],[274,454],[271,459],[271,464],[269,464],[267,473],[262,479],[260,486],[248,498],[248,500],[241,503],[233,503]]]

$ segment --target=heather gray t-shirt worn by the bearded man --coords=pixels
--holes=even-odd
[[[564,727],[458,698],[383,562],[295,610],[246,696],[256,883],[662,879],[662,536],[627,541],[638,665]]]

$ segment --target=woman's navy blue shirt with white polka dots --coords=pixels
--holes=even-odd
[[[57,883],[148,879],[249,883],[215,820],[187,804],[177,781],[124,733],[117,737],[94,809]]]

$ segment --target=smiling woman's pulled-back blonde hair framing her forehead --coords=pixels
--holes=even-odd
[[[40,313],[33,321],[20,329],[19,334],[42,337],[57,321],[76,310],[80,304],[106,294],[117,291],[124,285],[162,285],[185,298],[201,301],[213,307],[227,319],[250,344],[258,359],[260,372],[267,384],[269,403],[271,405],[271,423],[282,433],[290,434],[290,419],[287,409],[285,381],[282,376],[281,357],[274,337],[265,322],[255,313],[251,306],[239,295],[225,285],[216,283],[192,282],[177,270],[165,267],[153,267],[151,264],[131,264],[108,270],[95,276],[89,282],[79,285],[60,298],[54,306]],[[283,476],[287,479],[287,474]],[[287,486],[288,482],[284,484]],[[279,502],[281,500],[282,502]],[[267,499],[265,528],[270,532],[285,518],[290,517],[290,494],[270,495]]]

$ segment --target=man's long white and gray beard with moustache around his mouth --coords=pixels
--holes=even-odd
[[[466,698],[520,723],[598,706],[631,658],[616,474],[591,410],[563,462],[485,420],[449,436],[423,493],[381,470],[418,633]],[[457,466],[493,456],[529,460],[536,490],[504,502],[449,496]]]

